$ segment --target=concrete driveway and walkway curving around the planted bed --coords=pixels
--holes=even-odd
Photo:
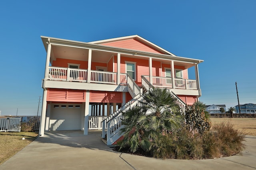
[[[246,136],[242,155],[208,160],[156,159],[115,152],[100,131],[48,132],[0,165],[0,170],[255,170],[256,137]]]

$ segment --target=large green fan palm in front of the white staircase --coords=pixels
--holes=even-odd
[[[143,95],[142,107],[134,107],[123,113],[124,139],[120,149],[129,147],[131,152],[139,148],[149,151],[158,135],[175,131],[180,127],[179,106],[168,90],[153,88]]]

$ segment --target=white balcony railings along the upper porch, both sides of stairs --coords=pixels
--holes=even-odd
[[[127,74],[121,73],[118,79],[116,72],[91,70],[90,80],[88,81],[88,70],[77,68],[64,68],[49,66],[48,76],[44,80],[67,81],[67,82],[82,82],[82,83],[101,83],[126,85]],[[145,78],[150,81],[149,76]],[[153,76],[151,84],[158,88],[183,89],[183,90],[199,90],[197,80],[174,78],[174,86],[172,78]]]

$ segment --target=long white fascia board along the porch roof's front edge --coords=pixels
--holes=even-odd
[[[41,36],[41,38],[44,43],[48,42],[48,39],[50,39],[50,43],[52,45],[92,49],[92,50],[105,51],[110,53],[120,53],[124,55],[133,55],[133,56],[139,56],[139,57],[152,57],[155,59],[165,59],[168,61],[178,61],[178,62],[184,62],[184,63],[198,64],[203,62],[203,60],[200,60],[200,59],[191,59],[191,58],[178,57],[178,56],[172,56],[167,54],[156,54],[156,53],[149,53],[144,51],[123,49],[118,47],[109,47],[105,45],[85,43],[81,41],[72,41],[72,40],[58,39],[58,38],[44,37],[44,36]]]

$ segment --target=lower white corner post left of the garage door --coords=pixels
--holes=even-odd
[[[47,90],[45,89],[43,92],[43,100],[42,100],[42,113],[41,113],[41,120],[40,120],[40,128],[39,128],[39,136],[44,136],[44,128],[45,128],[45,117],[46,117],[46,96]]]

